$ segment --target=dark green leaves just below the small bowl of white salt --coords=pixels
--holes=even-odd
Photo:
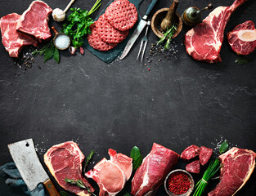
[[[52,40],[48,42],[44,47],[37,49],[32,52],[33,56],[43,56],[44,63],[47,60],[53,59],[56,61],[56,63],[60,63],[60,52],[59,50],[54,46]]]

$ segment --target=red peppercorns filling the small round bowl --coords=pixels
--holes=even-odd
[[[177,171],[168,177],[168,189],[173,194],[185,194],[191,188],[189,176],[185,173]]]

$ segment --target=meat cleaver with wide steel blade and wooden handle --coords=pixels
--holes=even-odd
[[[60,196],[39,161],[32,139],[12,143],[8,145],[8,149],[20,171],[20,176],[30,191],[34,190],[39,183],[43,183],[50,196]]]

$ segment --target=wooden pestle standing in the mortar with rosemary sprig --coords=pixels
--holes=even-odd
[[[172,5],[168,9],[167,15],[165,16],[164,20],[162,20],[161,22],[160,27],[164,31],[166,31],[173,25],[173,20],[174,20],[175,13],[177,11],[178,2],[179,2],[178,0],[173,0]]]

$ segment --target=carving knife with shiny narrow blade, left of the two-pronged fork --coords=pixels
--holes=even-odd
[[[139,37],[141,31],[144,29],[144,27],[146,26],[146,19],[147,16],[149,16],[150,11],[152,11],[153,7],[155,6],[155,3],[158,0],[152,0],[152,2],[150,2],[149,7],[146,10],[146,14],[142,17],[141,21],[139,22],[139,24],[137,25],[137,28],[134,30],[134,32],[132,33],[131,38],[129,39],[128,43],[126,44],[123,54],[120,56],[120,60],[123,60],[125,56],[127,56],[128,52],[130,51],[130,49],[132,48],[132,45],[134,44],[134,42],[137,40],[137,38]]]

